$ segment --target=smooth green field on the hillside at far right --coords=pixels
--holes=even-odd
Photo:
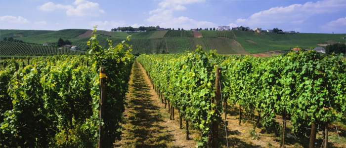
[[[237,40],[249,53],[271,50],[290,50],[294,47],[315,48],[327,41],[345,42],[341,39],[345,34],[274,34],[234,31]],[[249,41],[250,40],[250,41]]]

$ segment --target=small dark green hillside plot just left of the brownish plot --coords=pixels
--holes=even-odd
[[[165,40],[169,53],[181,53],[191,50],[189,40],[186,37],[166,37]]]

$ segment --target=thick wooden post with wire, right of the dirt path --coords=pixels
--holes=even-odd
[[[215,106],[220,105],[221,100],[221,89],[220,89],[220,81],[221,81],[221,67],[216,68],[215,72],[216,78],[215,78]],[[218,111],[215,111],[216,114],[218,114]],[[217,148],[217,137],[218,137],[218,123],[214,121],[212,123],[213,125],[213,131],[212,131],[212,147]]]

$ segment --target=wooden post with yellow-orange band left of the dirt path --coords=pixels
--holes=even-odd
[[[106,107],[106,68],[100,68],[100,120],[103,119],[105,114]],[[101,123],[98,127],[99,130],[99,140],[98,140],[98,148],[105,148],[105,135],[104,135],[104,127],[101,127]]]

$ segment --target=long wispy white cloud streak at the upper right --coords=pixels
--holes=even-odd
[[[286,7],[272,7],[254,13],[249,18],[239,18],[234,23],[251,27],[276,26],[276,24],[303,24],[312,15],[336,12],[345,7],[346,0],[309,1],[304,4],[292,4]]]

